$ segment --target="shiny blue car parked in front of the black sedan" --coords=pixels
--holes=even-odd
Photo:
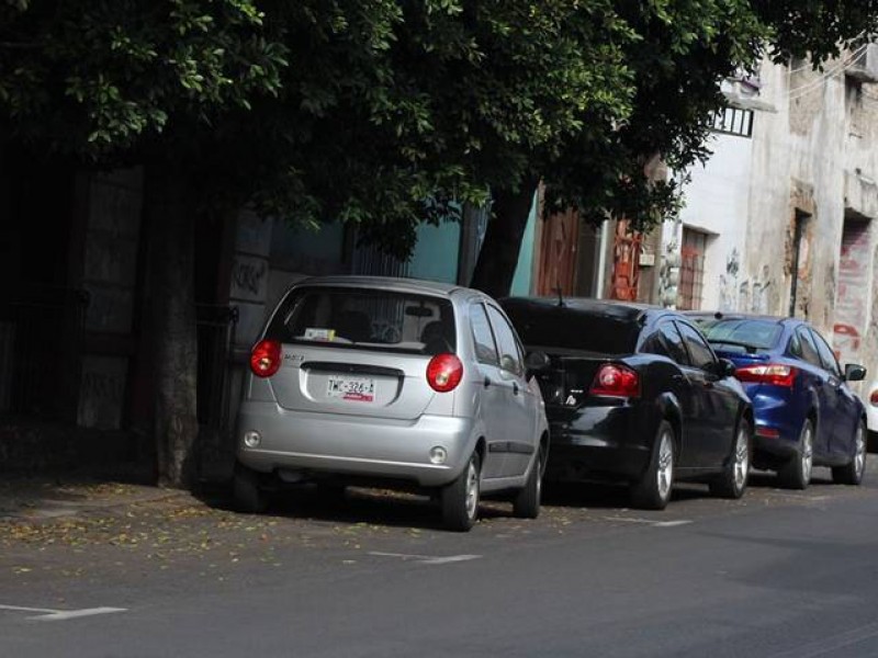
[[[753,400],[754,467],[776,470],[780,485],[804,489],[812,466],[858,485],[866,466],[866,410],[847,382],[866,368],[842,370],[825,339],[808,322],[721,313],[687,314]]]

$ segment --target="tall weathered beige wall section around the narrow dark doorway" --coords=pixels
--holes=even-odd
[[[845,79],[766,64],[763,80],[778,112],[754,129],[742,293],[750,310],[788,315],[796,277],[795,315],[829,337],[844,217]],[[803,228],[793,272],[797,214]]]

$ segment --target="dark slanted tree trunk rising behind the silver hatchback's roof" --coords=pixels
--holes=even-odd
[[[515,192],[495,191],[494,216],[487,223],[485,241],[470,282],[472,287],[492,297],[509,294],[538,182],[526,181]]]

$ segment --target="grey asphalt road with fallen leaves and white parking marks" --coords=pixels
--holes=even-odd
[[[361,490],[22,526],[0,543],[0,656],[878,656],[870,457],[859,488],[757,476],[656,513],[565,488],[538,521],[484,504],[469,534]]]

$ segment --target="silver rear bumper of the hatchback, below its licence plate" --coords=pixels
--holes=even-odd
[[[257,447],[244,444],[255,430]],[[421,416],[414,421],[289,411],[273,402],[245,401],[235,434],[237,457],[255,470],[277,469],[407,480],[421,487],[454,480],[475,439],[468,418]],[[429,451],[442,446],[448,458],[431,464]]]

